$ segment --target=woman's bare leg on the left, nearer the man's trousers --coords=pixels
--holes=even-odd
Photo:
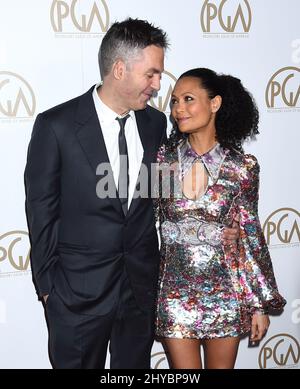
[[[200,340],[165,338],[171,369],[201,369]]]

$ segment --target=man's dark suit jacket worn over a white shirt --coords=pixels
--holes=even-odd
[[[39,114],[33,127],[25,188],[34,282],[39,296],[51,298],[54,288],[71,310],[103,315],[125,266],[140,308],[153,309],[159,252],[152,200],[133,199],[125,217],[118,197],[97,197],[96,169],[109,159],[93,88]],[[135,114],[150,168],[166,117],[150,106]]]

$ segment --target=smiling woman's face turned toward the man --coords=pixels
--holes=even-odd
[[[198,78],[184,77],[178,80],[174,87],[171,113],[183,133],[215,131],[215,112],[220,103],[220,96],[213,99],[208,97]]]

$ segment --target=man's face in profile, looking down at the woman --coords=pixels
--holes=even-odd
[[[160,89],[164,70],[164,50],[154,45],[141,50],[141,56],[134,59],[123,78],[123,97],[128,110],[146,108],[155,91]]]

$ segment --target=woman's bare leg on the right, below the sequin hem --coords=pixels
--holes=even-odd
[[[239,343],[239,337],[203,340],[205,368],[233,369]]]

